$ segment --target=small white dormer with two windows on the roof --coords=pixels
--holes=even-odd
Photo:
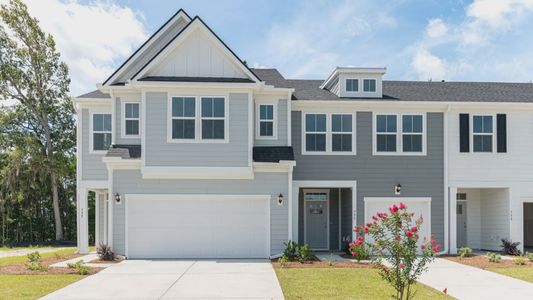
[[[381,98],[386,68],[337,67],[320,88],[341,98]]]

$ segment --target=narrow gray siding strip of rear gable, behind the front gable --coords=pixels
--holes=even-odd
[[[178,32],[180,32],[187,23],[183,20],[170,26],[157,41],[154,41],[149,47],[144,50],[144,53],[130,61],[130,64],[127,68],[123,69],[123,73],[118,77],[115,82],[125,82],[128,79],[131,79],[139,69],[144,66],[159,50],[161,50]]]

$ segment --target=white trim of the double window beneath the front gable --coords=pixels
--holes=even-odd
[[[172,98],[194,98],[194,139],[172,138]],[[222,118],[202,118],[202,98],[224,98],[224,139],[202,139],[202,119],[221,120]],[[227,95],[169,95],[167,99],[167,143],[170,144],[224,144],[229,143],[229,97]],[[187,118],[185,118],[187,119]],[[192,118],[190,118],[192,119]]]

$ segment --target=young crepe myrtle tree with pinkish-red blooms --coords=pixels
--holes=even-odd
[[[420,239],[423,221],[422,216],[414,220],[414,213],[400,203],[392,205],[389,214],[379,212],[372,222],[354,229],[365,237],[380,276],[396,291],[395,299],[413,299],[412,285],[440,249],[434,239]]]

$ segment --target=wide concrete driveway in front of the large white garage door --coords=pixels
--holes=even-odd
[[[42,299],[283,299],[283,293],[266,260],[127,260]]]

